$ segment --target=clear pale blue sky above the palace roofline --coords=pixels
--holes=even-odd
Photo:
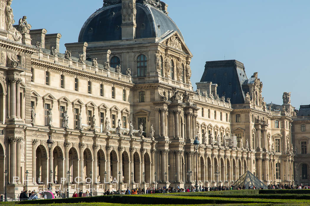
[[[310,104],[309,0],[163,0],[193,53],[192,83],[199,82],[206,61],[236,59],[250,77],[258,72],[263,97],[282,104]],[[61,33],[65,43],[77,42],[83,23],[102,0],[13,0],[15,21],[23,15],[33,29]]]

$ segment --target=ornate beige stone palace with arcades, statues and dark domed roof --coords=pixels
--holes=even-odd
[[[118,180],[185,187],[196,168],[201,185],[233,184],[246,170],[293,182],[290,95],[280,110],[267,107],[257,73],[247,78],[236,60],[206,62],[193,91],[192,54],[164,2],[105,0],[64,54],[59,33],[22,16],[13,26],[11,1],[0,6],[1,193],[5,170],[10,197],[26,171],[29,190],[51,175],[64,191],[67,171],[71,189],[98,192]]]

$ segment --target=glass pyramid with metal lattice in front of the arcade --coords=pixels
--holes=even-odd
[[[249,186],[253,188],[255,186],[255,189],[259,190],[261,187],[264,189],[268,189],[268,187],[260,181],[258,178],[254,176],[254,174],[250,173],[250,171],[246,171],[235,183],[235,189],[239,188],[239,186],[242,188],[244,185],[246,186],[246,189],[249,189]]]

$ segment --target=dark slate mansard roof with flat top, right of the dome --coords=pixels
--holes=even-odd
[[[230,98],[232,104],[242,104],[244,92],[249,91],[247,84],[254,83],[255,78],[247,78],[244,65],[237,60],[207,61],[200,82],[217,84],[219,97]]]

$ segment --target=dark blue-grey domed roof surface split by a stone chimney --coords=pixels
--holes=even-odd
[[[84,23],[79,42],[122,40],[122,5],[102,7]],[[162,39],[167,31],[177,31],[183,36],[176,24],[163,11],[149,5],[136,4],[136,39],[158,37]]]

